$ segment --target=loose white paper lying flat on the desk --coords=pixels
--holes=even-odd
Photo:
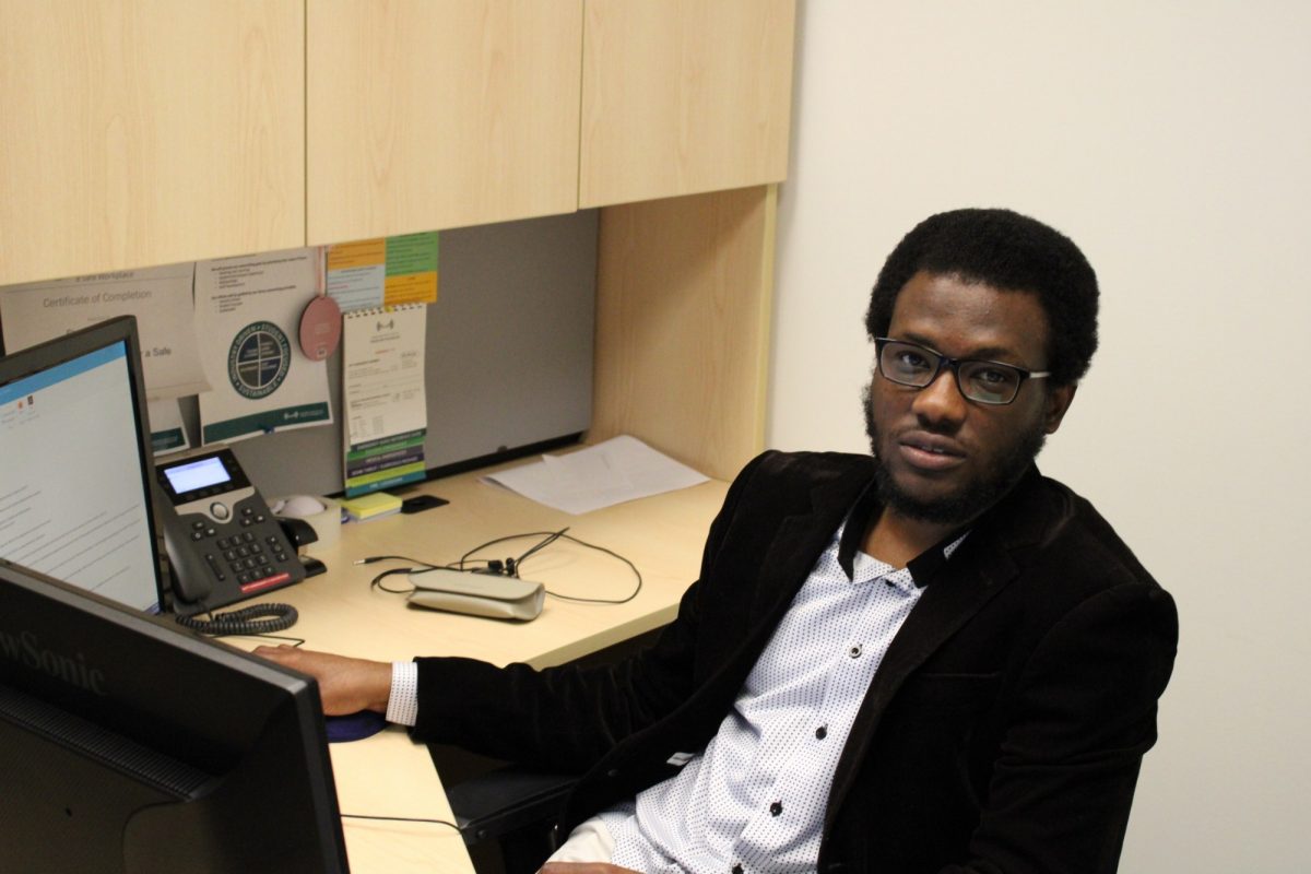
[[[708,477],[621,435],[566,455],[482,477],[526,498],[569,514],[600,510],[663,491],[687,489]]]

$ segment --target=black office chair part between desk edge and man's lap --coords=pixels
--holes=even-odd
[[[562,840],[560,815],[577,780],[511,765],[448,788],[455,823],[477,873],[534,874],[541,867]]]

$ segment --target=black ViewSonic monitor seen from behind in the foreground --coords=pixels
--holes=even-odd
[[[346,870],[309,677],[0,560],[0,871]]]

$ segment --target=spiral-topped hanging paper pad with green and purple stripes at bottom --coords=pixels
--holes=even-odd
[[[342,324],[346,497],[425,477],[427,308],[358,309]]]

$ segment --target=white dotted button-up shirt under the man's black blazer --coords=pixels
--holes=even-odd
[[[842,533],[815,562],[705,750],[680,756],[687,764],[678,774],[600,814],[615,839],[614,864],[648,874],[815,869],[838,757],[923,591],[910,570],[861,552],[848,578],[839,562]]]

